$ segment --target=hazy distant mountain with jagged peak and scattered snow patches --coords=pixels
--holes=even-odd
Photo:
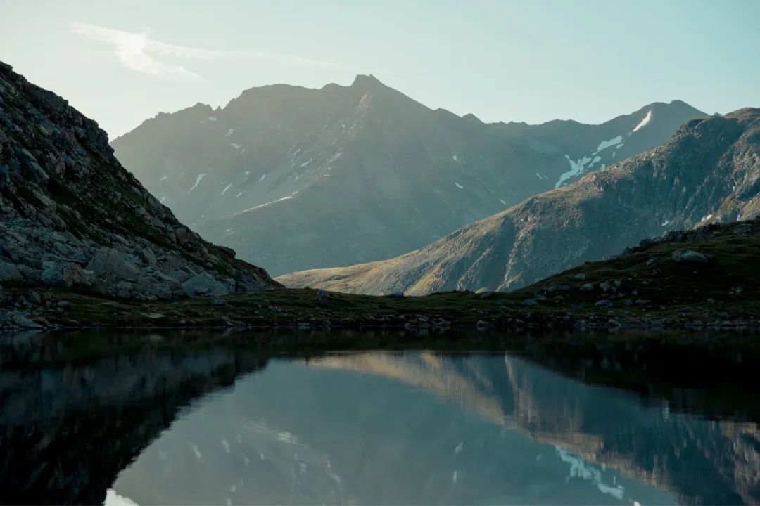
[[[600,125],[484,124],[359,76],[159,114],[112,146],[203,237],[283,274],[423,247],[703,115],[675,101]]]

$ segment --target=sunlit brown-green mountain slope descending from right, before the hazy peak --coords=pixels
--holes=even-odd
[[[287,286],[362,294],[512,290],[641,239],[760,214],[760,109],[687,121],[673,140],[420,250]]]

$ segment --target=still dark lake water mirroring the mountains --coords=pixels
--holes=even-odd
[[[672,341],[288,357],[0,335],[0,501],[758,503],[755,340]]]

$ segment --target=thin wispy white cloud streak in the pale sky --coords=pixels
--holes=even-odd
[[[242,59],[270,61],[274,63],[309,65],[314,67],[348,69],[344,65],[329,61],[318,61],[300,58],[292,55],[280,55],[268,52],[249,51],[220,51],[217,49],[202,49],[188,46],[178,46],[160,42],[149,37],[149,30],[144,32],[125,32],[113,28],[99,27],[87,23],[72,23],[74,33],[86,36],[88,39],[105,42],[115,46],[114,55],[125,68],[131,71],[152,74],[155,76],[182,77],[186,79],[203,80],[200,74],[188,70],[176,62],[169,63],[171,58],[185,60],[220,60]]]

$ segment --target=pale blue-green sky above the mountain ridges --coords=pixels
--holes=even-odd
[[[254,86],[356,74],[483,121],[760,106],[758,0],[0,0],[0,61],[112,139]]]

